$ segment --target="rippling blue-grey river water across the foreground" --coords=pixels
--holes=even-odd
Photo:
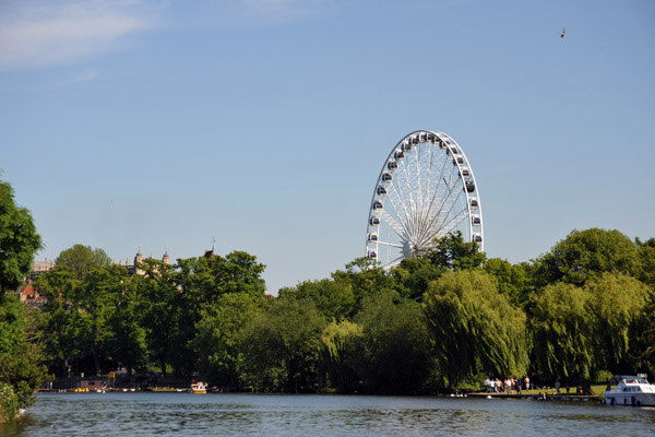
[[[654,436],[655,409],[329,394],[47,393],[8,436]]]

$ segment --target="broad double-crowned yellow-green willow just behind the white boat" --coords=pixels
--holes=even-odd
[[[547,286],[531,317],[536,370],[574,380],[638,370],[652,302],[648,286],[623,274],[604,273],[584,287]]]

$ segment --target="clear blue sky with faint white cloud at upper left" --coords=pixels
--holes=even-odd
[[[386,155],[439,130],[473,166],[489,257],[574,228],[646,239],[653,23],[647,0],[4,0],[2,179],[38,259],[215,238],[276,293],[362,256]]]

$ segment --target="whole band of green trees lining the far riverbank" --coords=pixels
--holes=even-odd
[[[0,188],[5,292],[40,238]],[[573,231],[515,264],[451,234],[390,271],[360,258],[275,298],[264,295],[265,267],[243,251],[139,268],[130,275],[76,245],[33,284],[48,298],[40,310],[2,295],[5,411],[29,403],[48,374],[121,367],[199,373],[230,390],[340,393],[467,390],[525,375],[579,385],[655,369],[655,239],[618,231]]]

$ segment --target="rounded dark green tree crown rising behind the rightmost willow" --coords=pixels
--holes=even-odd
[[[583,285],[588,280],[599,279],[603,272],[639,277],[639,251],[620,232],[593,227],[571,232],[539,257],[533,280],[541,287],[558,281]]]

